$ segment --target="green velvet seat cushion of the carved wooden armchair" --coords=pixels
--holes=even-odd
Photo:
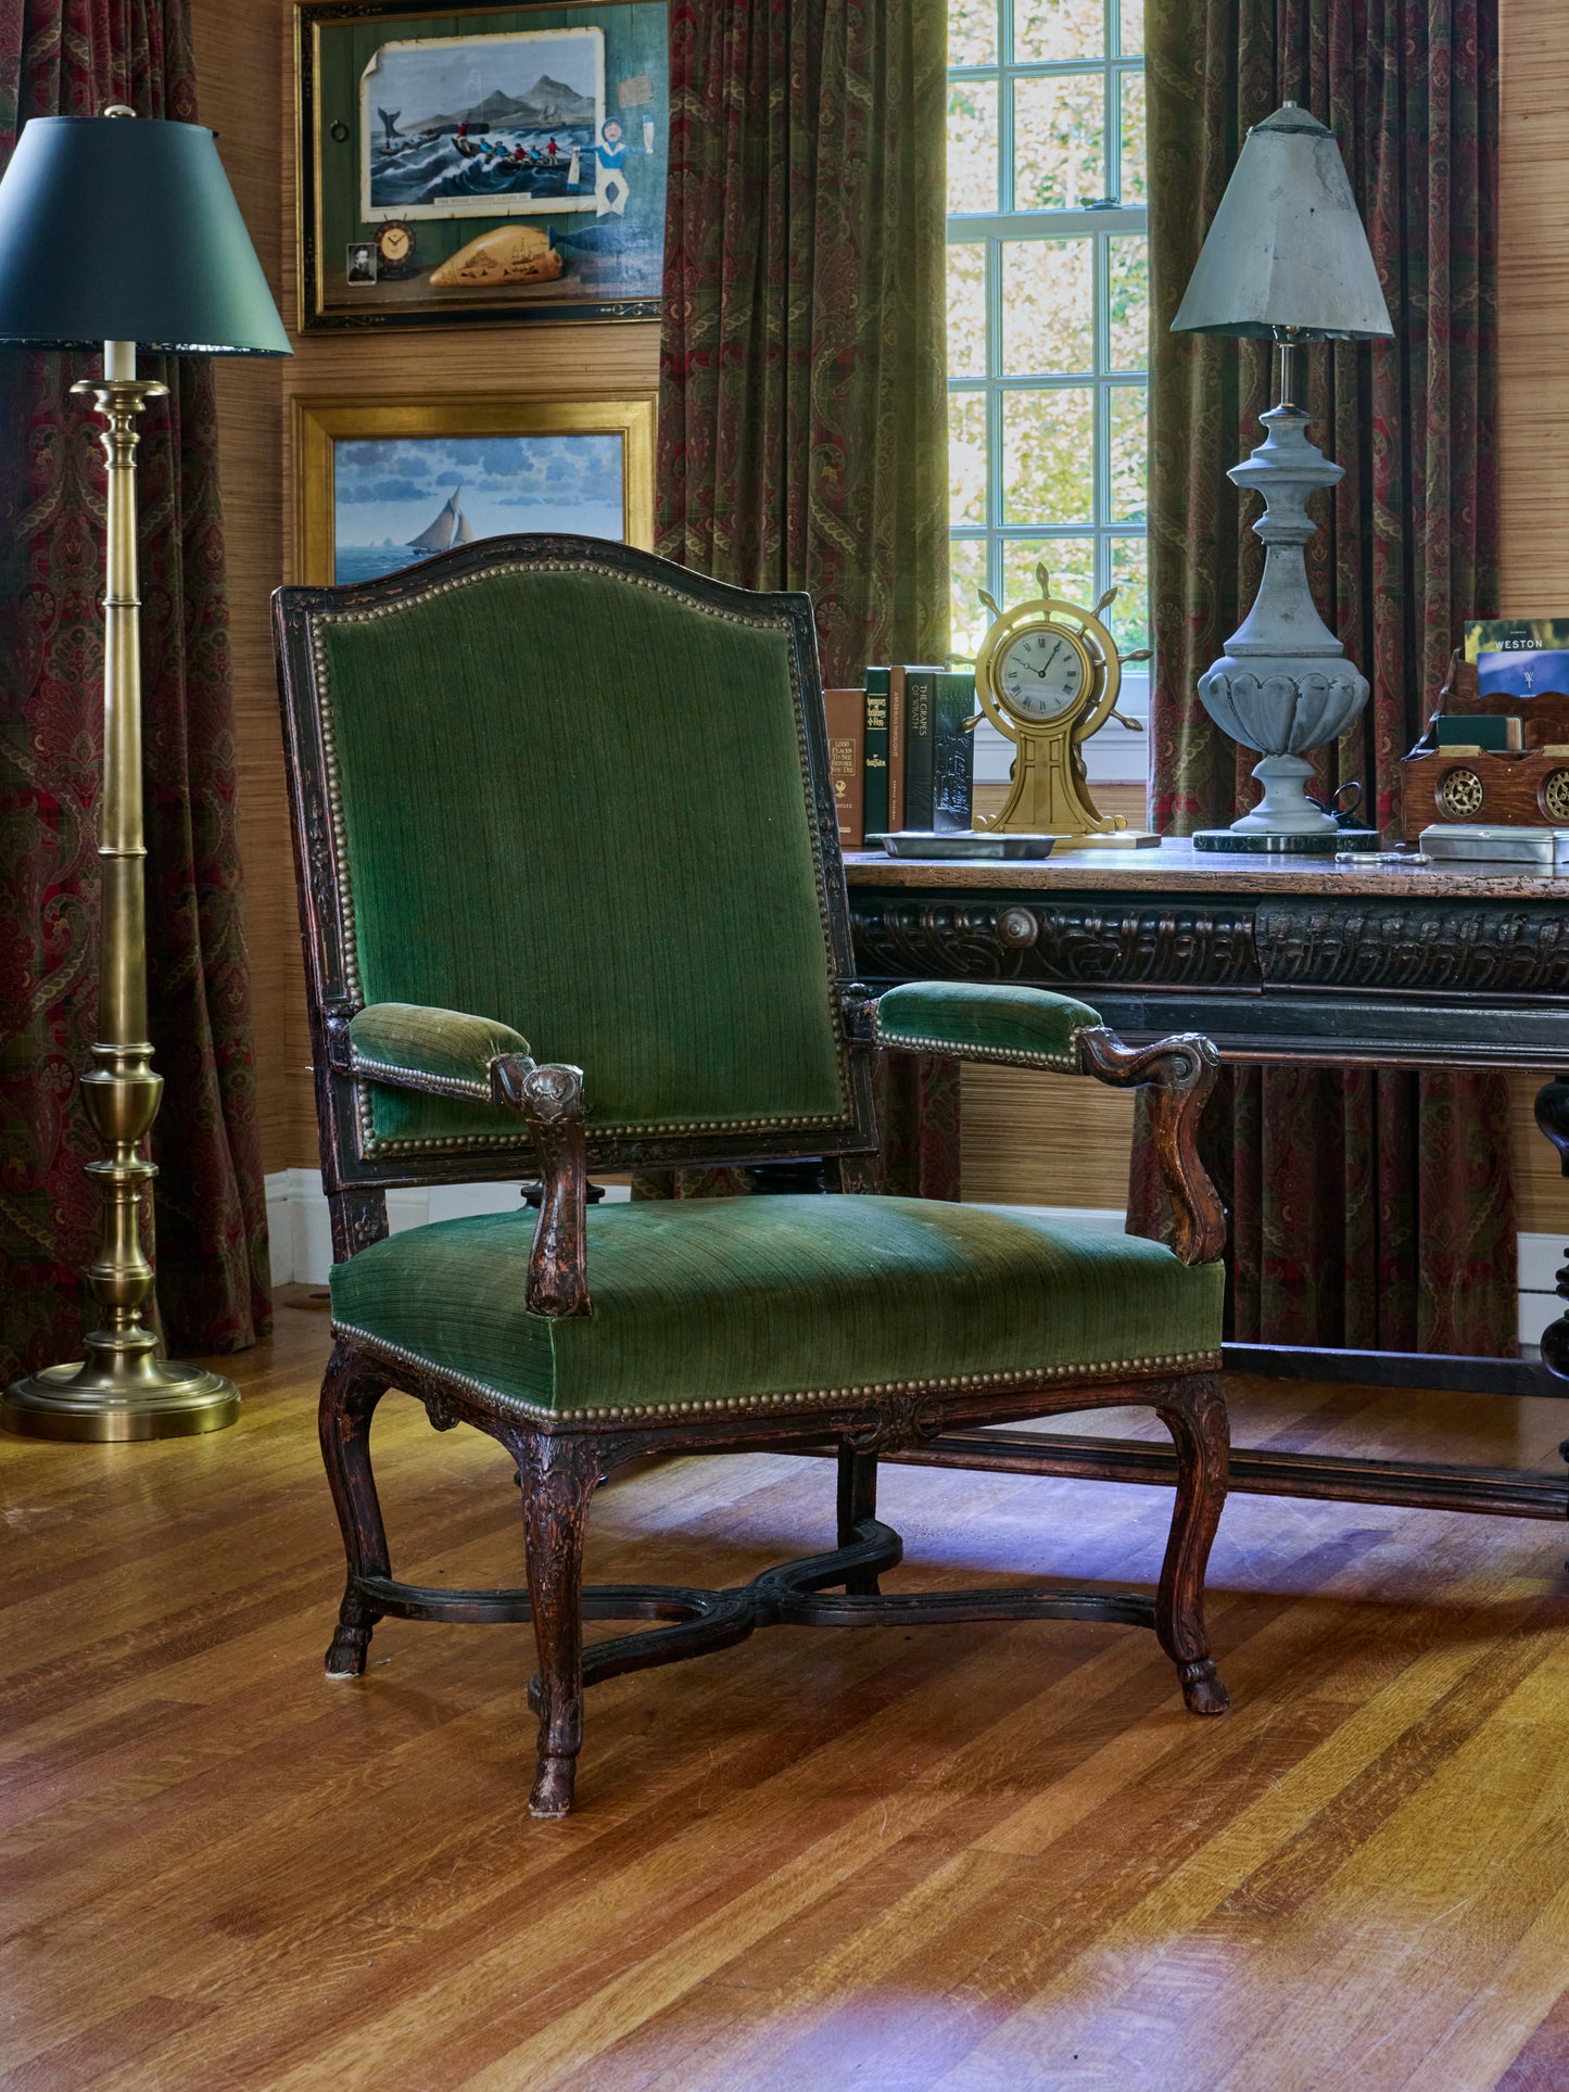
[[[753,1197],[588,1215],[594,1314],[523,1310],[533,1213],[387,1236],[333,1322],[531,1414],[661,1416],[868,1389],[1182,1366],[1220,1349],[1222,1266],[992,1205]]]

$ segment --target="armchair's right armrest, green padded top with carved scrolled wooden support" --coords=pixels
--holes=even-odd
[[[1149,1088],[1151,1132],[1176,1215],[1184,1264],[1213,1264],[1226,1247],[1226,1207],[1199,1161],[1199,1119],[1220,1073],[1220,1054],[1197,1031],[1123,1046],[1100,1013],[1042,987],[973,981],[908,981],[872,1010],[872,1040],[954,1061],[1094,1075],[1119,1090]]]

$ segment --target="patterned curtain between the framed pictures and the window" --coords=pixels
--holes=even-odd
[[[808,590],[831,686],[948,653],[946,65],[939,0],[669,10],[657,542]],[[958,1069],[885,1061],[891,1186],[956,1199]]]

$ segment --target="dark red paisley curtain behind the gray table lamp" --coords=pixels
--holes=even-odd
[[[1320,784],[1400,814],[1400,757],[1466,617],[1498,594],[1498,8],[1485,0],[1151,0],[1151,598],[1157,826],[1257,797],[1251,751],[1197,680],[1264,565],[1226,479],[1270,404],[1264,343],[1172,335],[1241,140],[1282,100],[1335,130],[1379,264],[1391,343],[1305,356],[1310,437],[1345,467],[1308,569],[1372,682]],[[1502,1075],[1247,1069],[1207,1115],[1232,1209],[1232,1335],[1255,1343],[1508,1356],[1515,1192]],[[1146,1144],[1134,1226],[1153,1228]]]

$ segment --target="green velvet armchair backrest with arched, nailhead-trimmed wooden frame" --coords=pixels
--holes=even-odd
[[[379,1002],[582,1067],[600,1169],[872,1144],[805,596],[492,538],[274,634],[328,1190],[529,1172],[513,1113],[333,1069]]]

